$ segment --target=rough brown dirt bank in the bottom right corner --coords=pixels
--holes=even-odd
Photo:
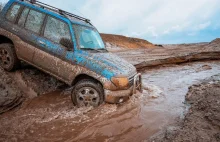
[[[167,128],[152,141],[219,142],[220,141],[220,75],[193,85],[186,95],[191,105],[183,121]]]

